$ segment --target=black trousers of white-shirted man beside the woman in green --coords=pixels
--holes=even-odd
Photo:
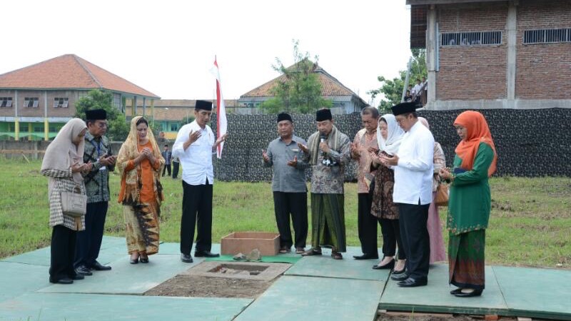
[[[426,280],[430,263],[430,239],[426,221],[430,204],[398,204],[400,237],[406,253],[406,269],[409,277]]]

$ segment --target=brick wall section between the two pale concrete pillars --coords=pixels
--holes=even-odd
[[[502,44],[441,46],[436,99],[476,100],[506,97],[507,4],[463,4],[438,7],[440,33],[502,31]]]

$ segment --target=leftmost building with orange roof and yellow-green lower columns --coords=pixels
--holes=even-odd
[[[93,89],[110,91],[121,111],[126,100],[141,99],[144,112],[160,98],[79,56],[59,56],[0,75],[0,139],[49,141]]]

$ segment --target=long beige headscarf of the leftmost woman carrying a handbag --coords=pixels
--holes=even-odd
[[[73,140],[86,128],[85,122],[79,118],[73,118],[71,121],[68,121],[64,127],[59,130],[54,141],[46,148],[44,161],[41,162],[41,169],[66,171],[73,165],[83,164],[85,140],[82,139],[79,141],[77,146]],[[74,181],[76,183],[81,183],[83,180],[84,178],[81,176],[81,173],[74,173]]]

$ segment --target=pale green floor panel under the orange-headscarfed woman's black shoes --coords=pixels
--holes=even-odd
[[[448,285],[448,265],[430,266],[428,285],[399,287],[389,280],[380,299],[379,308],[415,312],[443,312],[476,315],[509,315],[507,305],[495,280],[492,267],[485,268],[486,288],[480,297],[455,297]]]

